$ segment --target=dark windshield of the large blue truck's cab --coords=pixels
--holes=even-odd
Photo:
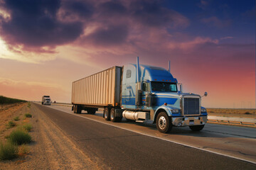
[[[151,81],[152,91],[177,92],[177,84]]]

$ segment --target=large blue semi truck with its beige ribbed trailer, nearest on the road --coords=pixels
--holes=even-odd
[[[105,120],[155,123],[159,132],[167,133],[174,126],[203,129],[207,122],[203,96],[183,93],[170,64],[166,70],[139,64],[137,58],[137,64],[114,66],[73,81],[71,100],[74,113],[95,114],[102,108]]]

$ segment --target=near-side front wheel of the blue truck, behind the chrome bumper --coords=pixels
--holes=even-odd
[[[159,130],[159,132],[170,132],[172,128],[171,118],[165,112],[161,112],[159,115],[157,115],[156,128]]]

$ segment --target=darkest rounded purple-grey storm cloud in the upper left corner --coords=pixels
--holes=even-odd
[[[1,22],[1,37],[9,45],[55,46],[72,42],[82,33],[82,23],[57,20],[58,0],[6,0],[11,20]]]

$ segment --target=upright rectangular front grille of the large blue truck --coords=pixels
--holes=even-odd
[[[184,115],[199,115],[199,98],[184,98]]]

